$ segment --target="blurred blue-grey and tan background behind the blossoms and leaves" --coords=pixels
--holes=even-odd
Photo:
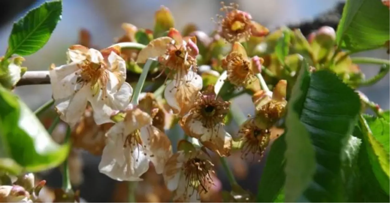
[[[18,2],[18,3],[16,3]],[[2,10],[0,27],[0,55],[5,53],[7,48],[8,35],[12,29],[12,22],[20,18],[32,7],[35,7],[43,0],[3,0],[0,3]],[[282,25],[295,25],[302,21],[310,21],[320,14],[333,9],[339,0],[235,0],[225,1],[227,4],[236,2],[240,10],[252,14],[255,21],[268,27],[271,31]],[[9,5],[7,5],[9,4]],[[209,33],[215,29],[215,23],[210,18],[215,17],[219,12],[220,1],[218,0],[63,0],[62,20],[58,23],[49,42],[39,52],[25,57],[23,66],[29,70],[47,70],[51,63],[56,65],[66,62],[66,50],[70,45],[75,44],[79,39],[79,31],[86,29],[92,36],[92,44],[99,48],[112,45],[115,37],[124,34],[121,24],[132,23],[137,27],[152,28],[154,12],[160,5],[167,6],[175,17],[175,24],[178,30],[182,30],[187,23],[195,23],[201,30]],[[4,12],[3,12],[4,10]],[[385,50],[376,50],[360,53],[359,55],[378,58],[390,58]],[[375,75],[379,67],[360,66],[366,74],[366,78]],[[386,90],[389,87],[390,76],[378,84],[362,89],[371,100],[379,103],[383,109],[390,108],[390,94]],[[15,93],[20,95],[33,110],[50,100],[50,85],[31,85],[18,87]],[[245,114],[253,113],[252,101],[248,96],[237,98],[234,103],[242,109]],[[234,130],[234,129],[232,129]],[[126,194],[127,186],[117,183],[97,171],[99,157],[86,152],[81,152],[82,177],[79,178],[76,188],[81,189],[81,196],[90,203],[121,202],[113,196],[118,192]],[[238,182],[254,192],[257,190],[257,183],[260,179],[262,165],[241,163],[238,157],[230,157],[230,164],[234,168]],[[218,171],[224,189],[228,189],[223,171]],[[48,185],[52,187],[61,186],[61,175],[58,170],[45,174]],[[147,190],[138,188],[138,190]],[[141,202],[141,201],[140,201]],[[160,202],[154,199],[145,202]]]

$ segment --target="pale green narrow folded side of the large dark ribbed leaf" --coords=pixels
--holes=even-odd
[[[310,75],[308,64],[304,61],[293,87],[286,116],[286,182],[284,185],[285,202],[294,203],[309,186],[316,172],[316,158],[310,141],[310,134],[300,121],[303,105],[309,91]],[[305,116],[305,115],[303,115]],[[310,120],[309,120],[310,121]]]

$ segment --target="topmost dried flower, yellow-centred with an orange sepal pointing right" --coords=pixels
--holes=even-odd
[[[238,4],[231,3],[226,6],[221,2],[221,11],[225,16],[218,16],[220,35],[229,43],[248,40],[250,36],[262,37],[269,33],[269,30],[259,23],[252,21],[252,16],[244,11],[238,10]]]

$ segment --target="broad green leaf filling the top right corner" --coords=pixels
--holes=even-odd
[[[351,51],[379,48],[390,40],[390,11],[379,0],[347,0],[336,41]]]

